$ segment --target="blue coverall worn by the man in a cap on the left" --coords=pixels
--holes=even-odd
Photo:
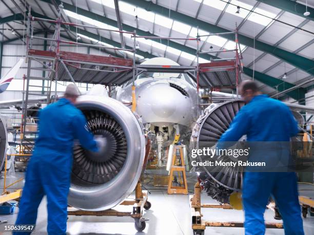
[[[90,151],[96,152],[98,148],[85,126],[85,116],[68,99],[48,105],[38,117],[38,138],[28,163],[15,224],[35,224],[38,206],[46,195],[48,233],[66,234],[73,140],[80,140]]]

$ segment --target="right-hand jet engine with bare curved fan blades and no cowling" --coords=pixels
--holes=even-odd
[[[194,141],[197,148],[211,147],[228,129],[232,119],[244,106],[241,100],[233,100],[221,104],[211,104],[195,124]],[[221,160],[224,156],[222,156]],[[226,156],[227,158],[227,156]],[[216,167],[216,166],[212,166]],[[200,173],[198,180],[206,193],[221,203],[229,203],[229,196],[233,191],[241,190],[243,178],[242,168],[221,166],[219,170],[210,171],[210,166]]]

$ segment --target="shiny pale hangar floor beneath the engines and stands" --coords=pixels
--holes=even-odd
[[[22,173],[17,173],[16,178],[21,177]],[[14,179],[9,179],[13,181]],[[16,185],[22,187],[23,183]],[[0,180],[0,188],[3,188],[3,179]],[[12,188],[13,190],[14,188]],[[134,222],[126,217],[92,217],[70,216],[68,220],[68,234],[192,234],[191,215],[188,196],[185,195],[167,195],[165,189],[151,189],[148,196],[152,204],[150,210],[146,210],[144,217],[149,219],[146,222],[146,228],[143,232],[138,232],[134,228]],[[314,186],[310,184],[299,185],[300,195],[314,196]],[[217,203],[203,194],[202,203]],[[38,209],[38,218],[36,230],[32,234],[47,234],[47,210],[46,199],[42,201]],[[117,209],[126,209],[126,206],[119,206]],[[131,210],[132,208],[130,208]],[[18,209],[13,215],[0,215],[0,220],[8,220],[8,224],[14,224]],[[243,221],[243,211],[224,210],[224,209],[203,209],[202,213],[205,220],[212,221]],[[280,222],[273,219],[271,210],[265,211],[265,220],[267,222]],[[308,216],[304,219],[304,230],[306,235],[313,234],[314,217]],[[1,230],[0,230],[1,231]],[[1,234],[1,232],[0,232]],[[6,233],[4,233],[6,234]],[[7,233],[9,234],[9,233]],[[213,228],[207,227],[205,234],[244,234],[243,228]],[[267,229],[266,234],[284,234],[283,229]]]

